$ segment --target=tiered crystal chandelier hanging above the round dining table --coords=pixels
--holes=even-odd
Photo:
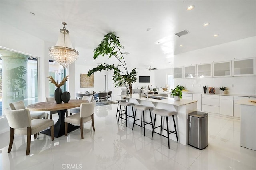
[[[66,30],[67,23],[62,22],[63,29],[60,29],[60,35],[55,46],[49,48],[49,55],[64,68],[78,59],[78,51],[73,49],[69,39],[69,32]]]

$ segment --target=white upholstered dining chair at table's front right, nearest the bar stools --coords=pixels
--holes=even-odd
[[[95,131],[94,118],[93,118],[95,103],[96,101],[93,101],[90,103],[81,103],[79,114],[74,114],[74,115],[65,117],[65,136],[68,133],[68,123],[80,125],[81,139],[84,139],[83,123],[86,123],[92,120],[92,128],[93,128],[93,131]]]

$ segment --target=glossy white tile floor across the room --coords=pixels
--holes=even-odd
[[[117,123],[117,104],[97,106],[95,128],[84,124],[80,130],[50,140],[32,135],[30,155],[26,156],[26,137],[16,135],[12,151],[7,154],[9,133],[0,135],[0,170],[255,170],[256,151],[240,147],[240,121],[209,115],[209,145],[198,150],[189,145],[170,142],[132,122]],[[57,117],[56,117],[57,116]],[[54,115],[54,121],[58,115]]]

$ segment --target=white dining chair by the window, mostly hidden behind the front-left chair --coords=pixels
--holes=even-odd
[[[25,109],[26,106],[22,100],[18,102],[9,103],[9,107],[11,110],[19,110]],[[30,112],[31,119],[45,119],[45,112],[42,111],[32,111]]]

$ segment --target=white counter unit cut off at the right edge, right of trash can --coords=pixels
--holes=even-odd
[[[241,105],[240,146],[256,150],[256,103],[252,100],[239,100]]]

